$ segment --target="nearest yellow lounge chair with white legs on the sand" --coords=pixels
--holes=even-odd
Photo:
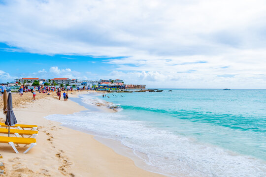
[[[31,148],[37,145],[35,138],[18,138],[18,137],[3,137],[3,136],[0,136],[0,143],[8,143],[15,150],[16,153],[19,153],[19,152],[17,148],[14,146],[14,144],[17,144],[17,145],[23,144],[25,146],[31,145],[23,153],[27,153]]]

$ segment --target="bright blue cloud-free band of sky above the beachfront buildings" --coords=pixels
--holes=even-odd
[[[40,55],[25,51],[13,52],[18,50],[0,43],[1,70],[8,72],[12,77],[40,77],[51,78],[59,77],[56,73],[49,73],[51,67],[71,68],[84,74],[73,74],[73,77],[81,79],[98,79],[98,75],[108,75],[113,68],[113,64],[107,64],[105,60],[114,59],[108,57],[77,56],[77,55]],[[47,71],[45,73],[40,71]],[[88,77],[88,74],[90,77]],[[83,78],[82,78],[83,77]],[[5,78],[1,78],[5,79]]]

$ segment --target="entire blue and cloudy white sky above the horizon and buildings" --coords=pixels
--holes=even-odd
[[[0,0],[0,83],[266,89],[265,0]]]

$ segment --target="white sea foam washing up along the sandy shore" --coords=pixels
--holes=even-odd
[[[84,103],[100,99],[82,97]],[[104,103],[108,106],[108,104]],[[126,115],[103,112],[79,112],[73,115],[52,115],[46,118],[119,140],[135,154],[146,154],[153,171],[172,177],[265,177],[265,161],[198,142],[152,127],[145,121],[131,120]]]

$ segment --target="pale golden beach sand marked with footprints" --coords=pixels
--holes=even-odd
[[[69,97],[85,92],[75,92]],[[37,146],[27,154],[22,153],[26,148],[18,148],[20,153],[16,154],[9,145],[0,144],[3,156],[0,161],[5,164],[6,177],[163,177],[136,167],[133,160],[117,154],[90,134],[43,118],[85,110],[77,103],[55,99],[55,93],[37,93],[36,101],[31,101],[32,93],[25,93],[23,97],[12,96],[18,122],[37,124],[38,136]],[[5,118],[2,111],[0,118]]]

